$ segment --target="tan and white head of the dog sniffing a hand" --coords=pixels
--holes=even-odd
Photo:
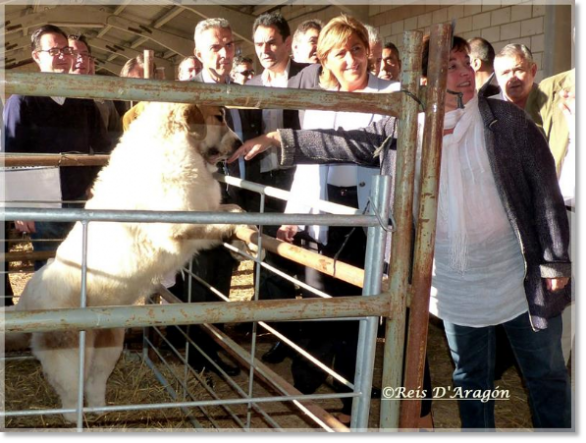
[[[227,159],[242,146],[226,123],[226,112],[220,106],[182,104],[175,108],[175,122],[197,140],[200,154],[210,165]]]

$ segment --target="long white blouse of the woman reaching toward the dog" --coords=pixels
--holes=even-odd
[[[527,311],[525,263],[498,195],[475,97],[446,113],[430,312],[484,327]]]

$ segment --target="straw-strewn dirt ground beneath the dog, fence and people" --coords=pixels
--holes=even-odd
[[[19,294],[24,287],[24,284],[31,275],[30,263],[16,263],[11,268],[13,272],[10,275],[10,280],[16,294]],[[232,291],[230,298],[233,300],[250,299],[252,295],[252,263],[243,262],[237,272],[234,273],[232,282]],[[260,328],[259,328],[260,331]],[[236,340],[244,348],[250,348],[250,334],[246,334],[239,328],[228,325],[226,332],[234,340]],[[131,334],[132,335],[132,334]],[[383,339],[379,339],[377,343],[377,353],[375,362],[374,384],[380,386],[382,376],[382,343]],[[260,333],[257,341],[256,356],[260,357],[266,350],[268,350],[274,343],[275,338],[268,333]],[[117,365],[108,387],[108,404],[130,404],[130,403],[158,403],[173,401],[168,394],[165,393],[163,387],[156,381],[150,369],[139,359],[139,350],[135,349],[137,342],[140,339],[133,340],[129,337],[127,340],[127,352],[124,358],[121,359]],[[136,346],[135,346],[136,345]],[[172,353],[167,352],[167,357],[170,356],[172,362],[171,368],[164,368],[164,371],[175,371],[183,373],[185,370],[178,362],[174,360]],[[430,324],[429,339],[428,339],[428,358],[431,369],[432,385],[434,387],[449,387],[451,386],[451,372],[452,364],[449,357],[446,342],[442,330],[435,324]],[[283,363],[278,365],[269,365],[271,369],[277,372],[280,376],[288,381],[291,378],[291,360],[287,358]],[[42,371],[40,365],[35,360],[17,360],[10,361],[6,364],[6,410],[18,409],[46,409],[56,408],[59,406],[58,398],[42,378]],[[204,378],[196,379],[195,376],[189,376],[190,389],[195,389],[195,392],[204,396],[205,385],[213,386],[214,390],[221,398],[235,398],[235,391],[229,388],[218,376],[215,374],[207,375]],[[248,389],[248,377],[241,373],[235,377],[235,381],[241,386],[243,390]],[[173,385],[173,383],[171,383]],[[500,401],[496,403],[496,418],[497,426],[502,429],[523,429],[531,427],[531,420],[529,408],[527,405],[525,390],[522,386],[519,375],[514,368],[509,369],[503,376],[502,380],[496,382],[500,389],[509,390],[511,399],[509,401]],[[15,390],[10,390],[14,386]],[[29,386],[27,392],[28,397],[23,393],[22,386]],[[32,387],[32,388],[31,388]],[[123,390],[122,387],[126,388]],[[181,392],[181,386],[175,384],[173,388],[176,392]],[[263,387],[260,384],[255,385],[254,395],[271,395],[270,389]],[[323,385],[318,393],[333,393],[331,385]],[[12,398],[10,397],[12,395]],[[274,395],[274,393],[272,394]],[[198,395],[199,397],[199,395]],[[202,397],[199,397],[202,398]],[[39,403],[39,399],[41,402]],[[370,424],[369,426],[374,430],[378,428],[379,410],[381,400],[372,400]],[[341,401],[332,399],[327,401],[320,401],[320,404],[330,413],[336,414],[341,410]],[[299,428],[316,428],[315,425],[297,408],[285,403],[269,403],[263,405],[267,408],[276,421],[281,426],[289,429]],[[211,412],[210,412],[211,411]],[[244,406],[234,408],[237,420],[246,423],[247,414]],[[207,420],[207,424],[203,424],[205,428],[212,428],[219,426],[221,428],[232,428],[237,426],[235,419],[230,417],[229,413],[219,407],[209,407],[202,411],[193,412],[194,417],[200,423]],[[206,417],[211,415],[211,419]],[[458,408],[454,400],[451,401],[434,401],[433,402],[433,418],[434,426],[437,431],[455,429],[459,427]],[[28,421],[27,421],[28,420]],[[30,421],[33,420],[33,421]],[[265,428],[266,421],[258,414],[251,416],[253,427]],[[60,428],[66,426],[60,416],[38,416],[33,418],[22,417],[10,418],[6,422],[7,427],[16,428]],[[192,422],[185,418],[180,411],[175,409],[160,408],[158,410],[146,411],[141,413],[126,414],[126,413],[109,413],[102,415],[99,418],[88,418],[86,420],[87,427],[103,427],[103,428],[185,428],[192,427]]]

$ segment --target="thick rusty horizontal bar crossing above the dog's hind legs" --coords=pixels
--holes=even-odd
[[[309,300],[260,300],[233,303],[123,306],[5,312],[0,332],[48,332],[81,329],[131,328],[154,325],[235,323],[380,316],[388,312],[385,294]],[[387,303],[387,306],[385,306]]]

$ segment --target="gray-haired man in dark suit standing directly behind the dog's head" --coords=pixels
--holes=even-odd
[[[230,83],[230,71],[234,59],[234,38],[232,29],[227,20],[223,18],[211,18],[199,22],[195,28],[195,56],[201,61],[203,69],[193,81],[203,83]],[[241,140],[255,137],[261,132],[261,115],[256,110],[227,109],[226,121],[228,126],[238,134]],[[246,165],[247,171],[254,168],[254,164]],[[226,174],[243,177],[246,172],[234,163],[226,168]],[[223,190],[224,200],[236,203],[244,209],[250,209],[248,194],[239,192],[239,189],[230,187]],[[193,261],[193,272],[212,287],[224,295],[230,293],[232,270],[238,262],[223,247],[219,246],[209,251],[200,252]],[[187,285],[182,279],[178,279],[173,292],[186,294]],[[184,287],[181,288],[181,285]],[[193,281],[191,298],[192,302],[218,301],[207,287],[197,281]],[[218,355],[219,346],[200,327],[192,327],[191,338],[206,352],[218,366],[228,375],[237,375],[240,369],[221,360]],[[195,369],[207,368],[217,371],[198,352],[190,352],[189,363]]]

